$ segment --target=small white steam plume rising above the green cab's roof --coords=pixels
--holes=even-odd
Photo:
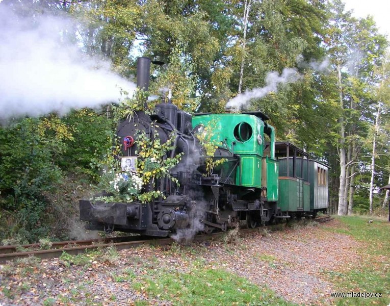
[[[272,91],[276,92],[280,83],[293,83],[300,78],[301,76],[295,68],[284,68],[280,75],[276,71],[269,72],[266,77],[266,86],[246,90],[244,93],[240,93],[228,101],[226,108],[233,108],[236,110],[244,108],[250,99],[263,98]]]

